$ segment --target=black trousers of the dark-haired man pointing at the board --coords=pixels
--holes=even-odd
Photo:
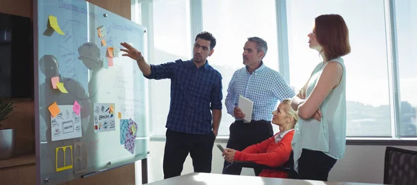
[[[181,175],[188,153],[193,159],[194,172],[211,172],[214,133],[187,134],[167,129],[163,154],[164,179]]]

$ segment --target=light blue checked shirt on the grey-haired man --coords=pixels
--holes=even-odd
[[[236,70],[227,88],[227,113],[233,116],[233,110],[238,106],[239,95],[254,102],[252,120],[272,120],[272,111],[277,109],[278,100],[295,96],[293,89],[279,72],[266,67],[263,63],[252,74],[246,67]],[[240,119],[236,119],[240,120]]]

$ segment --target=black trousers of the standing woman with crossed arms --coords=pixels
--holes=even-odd
[[[332,170],[336,159],[327,154],[316,151],[303,149],[300,159],[298,159],[298,173],[294,170],[294,157],[291,153],[291,172],[290,179],[309,179],[327,181],[329,172]]]

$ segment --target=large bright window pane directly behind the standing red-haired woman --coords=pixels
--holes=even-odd
[[[349,27],[352,47],[351,54],[344,57],[347,136],[391,136],[384,1],[291,0],[287,1],[287,13],[291,85],[302,88],[313,67],[321,61],[318,52],[309,49],[308,44],[307,34],[314,18],[329,13],[342,15]]]

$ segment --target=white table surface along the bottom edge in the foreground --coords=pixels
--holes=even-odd
[[[295,180],[295,179],[279,179],[269,177],[254,177],[244,175],[222,175],[214,173],[190,173],[179,177],[173,177],[170,179],[161,180],[158,182],[150,183],[149,185],[167,185],[167,184],[196,184],[196,185],[218,185],[218,184],[300,184],[300,185],[370,185],[365,183],[352,183],[352,182],[321,182],[311,180]]]

